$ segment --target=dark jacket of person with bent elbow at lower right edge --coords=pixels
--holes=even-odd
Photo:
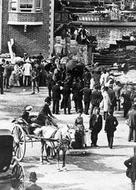
[[[126,175],[132,182],[136,180],[136,156],[133,156],[124,162],[127,167]]]

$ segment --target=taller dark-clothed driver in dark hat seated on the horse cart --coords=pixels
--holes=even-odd
[[[57,126],[56,123],[53,121],[53,118],[55,117],[52,115],[50,107],[49,107],[51,104],[51,98],[48,96],[47,98],[45,98],[44,101],[45,101],[45,104],[37,116],[36,123],[41,126],[45,126],[48,124]]]

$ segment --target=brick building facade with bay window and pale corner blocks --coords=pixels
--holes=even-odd
[[[47,57],[53,48],[53,9],[52,0],[0,0],[0,53],[8,52],[13,39],[17,56]]]

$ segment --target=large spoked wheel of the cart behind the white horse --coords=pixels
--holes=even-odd
[[[13,142],[14,156],[16,156],[17,161],[21,161],[24,158],[26,152],[25,133],[21,126],[16,125],[12,130],[12,135],[14,137],[14,142]]]

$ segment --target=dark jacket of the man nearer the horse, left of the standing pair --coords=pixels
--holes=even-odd
[[[92,114],[92,116],[90,117],[90,121],[89,121],[89,129],[99,133],[102,129],[102,116],[99,115],[95,115]]]

